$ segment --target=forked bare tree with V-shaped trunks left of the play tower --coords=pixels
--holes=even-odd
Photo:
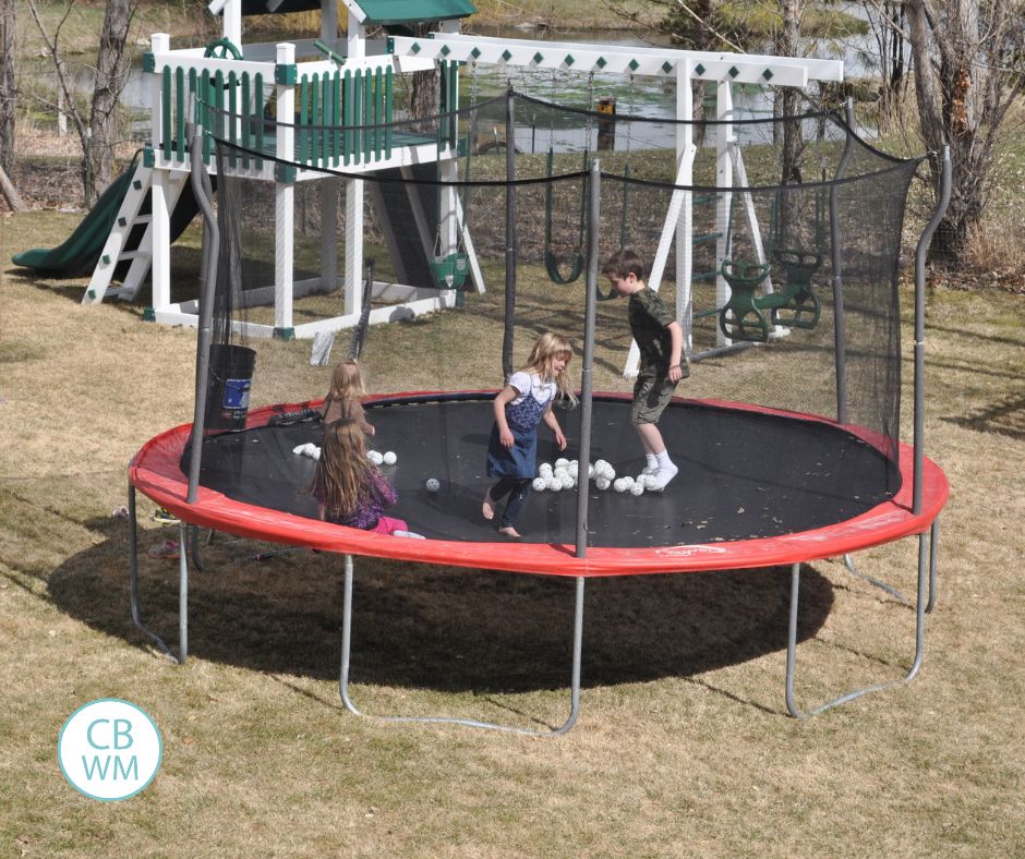
[[[74,99],[72,82],[69,80],[67,64],[60,50],[60,32],[75,7],[75,0],[68,4],[52,36],[44,24],[36,0],[27,0],[27,4],[57,70],[57,85],[61,90],[61,102],[82,144],[82,185],[85,191],[86,205],[92,205],[111,179],[114,148],[118,143],[120,116],[118,106],[130,70],[124,48],[132,21],[138,9],[138,0],[110,0],[107,3],[88,118],[83,114]],[[59,109],[57,104],[50,107]]]

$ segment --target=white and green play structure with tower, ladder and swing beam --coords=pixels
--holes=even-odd
[[[296,44],[244,44],[243,14],[266,12],[272,8],[276,11],[319,9],[321,38]],[[83,303],[98,302],[112,293],[133,298],[147,270],[152,270],[153,306],[149,317],[164,323],[195,324],[195,302],[172,301],[169,250],[176,206],[183,194],[190,193],[185,124],[193,116],[194,98],[200,99],[197,119],[201,123],[216,121],[203,110],[203,105],[213,100],[222,107],[226,114],[239,118],[233,128],[227,130],[229,136],[237,134],[246,148],[273,153],[281,161],[289,162],[286,166],[254,157],[250,164],[243,165],[245,174],[253,181],[274,183],[277,225],[274,282],[262,290],[249,291],[250,301],[273,302],[274,325],[248,323],[248,327],[253,335],[313,337],[321,331],[354,325],[360,318],[364,196],[370,196],[375,214],[387,210],[387,201],[382,198],[382,183],[367,183],[352,178],[352,174],[371,177],[379,171],[395,170],[409,178],[417,169],[430,166],[443,181],[458,179],[457,140],[441,135],[437,140],[407,140],[385,128],[393,121],[393,92],[400,75],[437,69],[442,110],[454,110],[459,106],[460,69],[471,75],[481,65],[509,70],[510,74],[514,70],[542,69],[622,74],[630,80],[646,75],[675,83],[676,116],[688,119],[694,116],[692,83],[703,81],[714,84],[714,118],[720,120],[734,116],[734,84],[806,87],[811,81],[843,80],[843,63],[833,60],[463,35],[458,32],[460,21],[475,11],[468,0],[425,0],[418,3],[395,0],[214,0],[209,9],[221,16],[224,35],[206,49],[172,51],[166,35],[158,34],[152,39],[145,68],[152,74],[153,144],[135,170]],[[338,37],[340,11],[347,15],[347,35],[343,38]],[[422,21],[438,22],[437,29],[424,37],[393,35],[373,40],[367,38],[373,26],[400,34],[408,31],[405,25]],[[377,130],[364,133],[359,128],[376,124],[383,128],[379,133]],[[322,125],[333,129],[322,134],[318,129]],[[338,126],[343,129],[348,125],[354,126],[354,131],[337,133]],[[659,289],[667,276],[665,268],[675,247],[676,270],[670,277],[675,277],[677,285],[676,314],[684,328],[688,354],[692,353],[695,278],[702,275],[714,277],[716,312],[729,306],[731,280],[734,285],[739,282],[736,271],[722,265],[729,258],[728,220],[734,207],[739,207],[736,210],[743,211],[747,218],[757,257],[755,262],[768,262],[753,206],[744,192],[748,181],[735,129],[729,124],[715,128],[715,184],[736,189],[720,194],[714,203],[718,225],[715,269],[697,275],[694,271],[692,217],[697,201],[690,191],[677,190],[665,215],[649,276],[650,286]],[[676,126],[675,148],[675,184],[686,186],[692,183],[697,155],[692,125],[680,123]],[[207,165],[210,157],[209,152],[204,153]],[[345,266],[341,273],[338,271],[338,251],[331,229],[338,222],[336,201],[339,194],[337,189],[324,183],[323,173],[306,172],[303,165],[334,168],[347,174],[335,180],[345,191]],[[292,276],[294,194],[297,184],[311,179],[322,180],[324,240],[319,273],[312,280],[296,282]],[[152,214],[141,215],[147,194],[152,199]],[[410,206],[411,222],[393,225],[385,230],[396,262],[396,279],[406,279],[402,277],[402,254],[395,246],[396,237],[403,230],[415,229],[429,263],[444,263],[454,258],[457,251],[463,253],[463,265],[469,269],[468,286],[482,291],[483,278],[473,254],[469,229],[472,225],[463,221],[459,195],[455,189],[443,186],[439,196],[436,234],[430,217],[415,201]],[[383,220],[387,223],[386,217]],[[136,235],[144,229],[145,237],[130,241],[133,229]],[[123,286],[112,290],[112,275],[119,266],[120,271],[124,271],[125,266],[129,271],[123,277]],[[391,303],[376,307],[370,322],[385,322],[453,306],[456,293],[445,286],[375,282],[373,297]],[[340,315],[294,324],[294,298],[313,291],[330,292],[339,287],[345,298]],[[760,277],[748,292],[753,293],[755,287],[757,294],[752,299],[752,307],[760,306],[760,302],[761,306],[771,310],[780,303],[779,297],[769,298],[773,294],[770,276]],[[765,316],[770,317],[768,334],[785,334],[787,328],[783,317],[777,313]],[[720,326],[716,348],[729,348],[733,342],[731,334],[736,336],[738,330],[746,329]],[[759,330],[759,336],[751,339],[768,339],[768,335],[765,330]],[[636,362],[635,347],[626,366],[627,375],[636,372]]]

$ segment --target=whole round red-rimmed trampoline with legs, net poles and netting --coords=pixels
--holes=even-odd
[[[517,110],[522,120],[527,118],[524,111],[533,116],[535,110],[558,110],[558,106],[530,99],[517,108],[518,98],[510,89],[504,101],[482,106],[483,117],[477,116],[477,108],[470,108],[465,114],[460,112],[460,121],[472,129],[474,122],[486,118],[489,109],[503,108],[506,140],[515,140]],[[581,122],[596,119],[583,113],[577,111]],[[631,125],[643,121],[638,117],[628,119]],[[506,153],[501,170],[495,165],[481,169],[482,174],[492,177],[489,180],[434,183],[439,195],[447,185],[445,193],[449,197],[477,183],[499,189],[493,193],[505,198],[504,230],[494,217],[501,207],[491,206],[481,216],[490,230],[483,230],[483,235],[478,235],[481,241],[475,242],[478,255],[487,258],[495,269],[503,267],[506,275],[501,350],[505,378],[512,372],[517,268],[531,266],[529,271],[534,276],[541,253],[536,241],[530,241],[529,230],[518,237],[519,220],[529,223],[531,219],[517,215],[517,190],[522,204],[531,198],[531,189],[536,203],[544,196],[541,193],[544,185],[562,183],[564,192],[586,185],[588,265],[576,330],[582,342],[580,409],[579,413],[560,415],[560,424],[570,438],[570,449],[564,456],[581,463],[604,459],[620,475],[634,476],[644,463],[629,421],[629,398],[593,390],[599,261],[629,242],[636,247],[658,247],[653,267],[664,273],[670,262],[668,249],[676,237],[676,250],[672,253],[676,255],[676,286],[680,289],[680,280],[694,281],[698,277],[684,258],[698,247],[714,249],[712,275],[722,270],[727,258],[734,262],[746,258],[745,265],[749,266],[751,259],[764,256],[760,223],[770,225],[767,234],[777,244],[783,243],[780,254],[784,259],[789,258],[786,254],[805,259],[808,246],[816,246],[813,273],[809,269],[801,274],[794,265],[776,271],[780,293],[772,300],[773,306],[798,286],[806,291],[811,289],[813,274],[820,312],[805,327],[797,325],[797,317],[792,319],[789,324],[795,326],[796,334],[781,330],[784,326],[773,317],[772,337],[768,338],[772,342],[764,344],[767,366],[759,367],[761,372],[751,377],[753,385],[735,395],[757,403],[674,400],[660,421],[660,430],[679,473],[664,492],[635,496],[599,491],[590,482],[569,492],[534,492],[517,523],[524,539],[515,542],[501,537],[494,525],[482,519],[480,509],[492,482],[485,473],[485,449],[493,421],[494,390],[390,394],[365,401],[377,431],[373,446],[381,452],[391,450],[397,455],[396,464],[384,468],[398,491],[394,512],[425,540],[358,531],[317,518],[309,493],[315,463],[312,458],[297,453],[296,448],[318,443],[322,425],[313,413],[319,403],[292,402],[249,410],[246,398],[245,413],[236,423],[225,426],[208,422],[208,404],[213,404],[214,415],[228,406],[226,378],[230,378],[218,376],[220,371],[212,355],[220,354],[222,349],[230,352],[234,348],[233,338],[246,330],[248,323],[239,318],[237,311],[248,306],[250,285],[260,282],[258,275],[265,267],[260,252],[273,244],[274,225],[264,217],[267,207],[260,204],[262,192],[254,191],[256,183],[244,169],[242,156],[246,150],[239,149],[237,142],[225,140],[216,140],[219,205],[215,215],[212,183],[201,159],[203,142],[197,132],[191,145],[192,182],[204,215],[203,269],[208,275],[200,301],[195,412],[191,424],[146,443],[129,468],[131,608],[135,625],[165,652],[184,662],[190,553],[181,552],[179,559],[176,655],[142,620],[135,518],[136,492],[141,492],[179,517],[183,546],[194,546],[196,529],[209,528],[343,555],[339,693],[345,706],[355,714],[361,711],[352,701],[349,676],[353,556],[358,555],[412,565],[566,577],[575,586],[570,707],[564,724],[551,730],[532,730],[448,716],[381,718],[457,723],[521,734],[566,733],[579,714],[583,589],[587,579],[593,577],[788,566],[785,701],[787,711],[796,717],[913,679],[922,663],[925,615],[936,598],[938,522],[949,495],[946,479],[925,457],[922,440],[925,257],[950,197],[949,152],[938,161],[942,176],[940,199],[919,239],[915,258],[914,438],[908,445],[900,438],[902,352],[897,274],[907,189],[921,159],[892,158],[860,141],[854,131],[852,110],[846,120],[824,114],[811,119],[828,122],[840,135],[835,141],[830,135],[816,135],[806,141],[809,146],[801,150],[808,176],[832,177],[820,182],[756,186],[745,180],[741,186],[719,187],[702,185],[695,173],[692,184],[680,185],[678,179],[673,182],[664,177],[638,178],[627,169],[629,164],[616,165],[614,159],[614,167],[622,172],[604,171],[592,162],[587,173],[532,174],[531,170],[536,173],[539,169],[538,159],[517,159]],[[447,134],[459,124],[451,116],[434,120],[438,122],[439,134]],[[678,121],[678,131],[689,134],[688,123],[689,120]],[[736,122],[724,120],[719,124],[729,132]],[[640,125],[632,131],[631,140],[639,144]],[[763,131],[764,140],[773,140],[775,135],[770,136],[769,131],[779,129]],[[757,138],[758,135],[751,136]],[[654,143],[648,148],[661,153],[660,158],[670,156],[663,167],[672,169],[671,177],[682,176],[672,150],[660,150]],[[739,157],[739,153],[734,155]],[[698,159],[691,167],[714,172],[721,162],[722,159]],[[304,164],[302,168],[305,177],[315,181],[335,183],[352,178],[327,164]],[[363,174],[359,178],[376,181]],[[408,181],[418,185],[426,180]],[[579,201],[576,192],[570,196]],[[714,210],[718,227],[726,229],[707,235],[686,229],[690,244],[682,249],[677,235],[679,213],[684,202],[689,201],[687,210],[694,215],[699,196],[708,201],[710,211]],[[628,197],[629,222],[625,217]],[[456,209],[458,206],[454,206]],[[523,241],[518,242],[517,238]],[[796,278],[794,283],[785,282],[792,277]],[[654,279],[654,275],[649,278]],[[367,285],[373,283],[370,266]],[[255,286],[253,291],[258,291]],[[372,289],[367,294],[371,292]],[[678,307],[682,297],[685,292],[680,289]],[[687,323],[686,317],[684,322]],[[531,332],[535,336],[534,330]],[[727,343],[724,349],[736,346]],[[725,352],[713,349],[703,354],[716,356]],[[697,358],[697,353],[691,356]],[[249,370],[252,366],[250,363]],[[244,383],[248,391],[249,380]],[[220,397],[224,403],[218,402]],[[546,434],[540,435],[539,460],[551,462],[557,453]],[[426,485],[432,477],[439,483],[435,492]],[[851,559],[852,553],[908,536],[918,537],[917,593],[913,598],[860,573]],[[801,566],[832,557],[843,557],[853,574],[914,607],[914,657],[902,677],[801,709],[794,694]]]

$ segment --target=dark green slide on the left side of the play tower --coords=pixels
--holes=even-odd
[[[100,253],[102,253],[107,237],[110,235],[110,230],[118,217],[118,210],[121,208],[124,195],[131,187],[132,177],[134,176],[135,162],[133,161],[121,176],[110,183],[96,202],[96,205],[86,213],[82,222],[62,244],[49,249],[35,247],[15,254],[11,257],[11,262],[17,266],[33,268],[36,274],[47,277],[84,277],[92,274],[99,261]],[[147,192],[140,213],[147,214],[149,211],[150,197]],[[198,206],[192,193],[192,187],[186,183],[171,216],[172,242],[181,235],[197,211]],[[137,250],[145,232],[146,225],[136,223],[129,234],[124,250]],[[128,274],[129,265],[130,261],[122,261],[114,271],[113,279],[121,280]]]

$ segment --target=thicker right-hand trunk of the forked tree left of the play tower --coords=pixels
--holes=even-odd
[[[101,189],[110,184],[118,143],[118,105],[128,81],[124,56],[129,28],[137,0],[109,0],[96,60],[96,85],[89,117],[89,145],[85,153],[86,204],[93,205]]]

